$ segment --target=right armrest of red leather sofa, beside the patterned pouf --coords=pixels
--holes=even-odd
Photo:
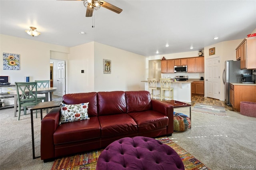
[[[152,110],[166,115],[169,118],[166,134],[172,134],[174,130],[173,106],[169,103],[151,99]]]

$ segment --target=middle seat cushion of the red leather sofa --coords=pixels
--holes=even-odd
[[[98,118],[100,121],[102,137],[138,132],[137,124],[126,113],[99,116]]]

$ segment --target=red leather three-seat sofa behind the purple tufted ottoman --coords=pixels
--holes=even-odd
[[[74,93],[63,96],[65,104],[89,102],[90,119],[62,123],[60,108],[52,109],[41,122],[41,159],[104,148],[124,137],[170,136],[173,106],[150,99],[148,91]]]

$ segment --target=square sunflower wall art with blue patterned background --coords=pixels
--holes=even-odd
[[[20,69],[20,54],[3,53],[4,70]]]

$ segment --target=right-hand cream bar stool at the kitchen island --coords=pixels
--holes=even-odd
[[[173,100],[173,88],[171,87],[171,79],[160,78],[161,84],[161,101],[162,99],[168,98],[168,100]],[[165,91],[169,91],[169,95],[165,95]]]

